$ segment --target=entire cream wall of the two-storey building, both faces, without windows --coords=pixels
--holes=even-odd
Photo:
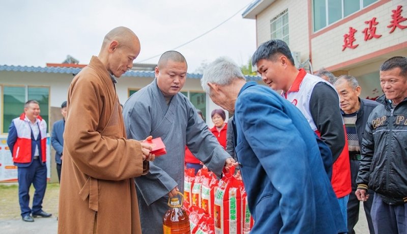
[[[375,98],[383,94],[380,87],[380,65],[393,56],[407,57],[407,29],[396,28],[389,33],[392,10],[402,6],[401,16],[407,18],[407,1],[380,0],[351,14],[322,30],[313,32],[312,0],[276,0],[256,15],[257,46],[271,39],[270,20],[288,9],[289,47],[301,53],[301,62],[311,56],[312,70],[327,68],[335,75],[349,74],[357,78],[362,87],[362,98]],[[364,40],[365,21],[376,17],[376,34],[380,38]],[[401,25],[407,25],[407,21]],[[357,30],[355,49],[345,48],[344,34],[349,28]]]

